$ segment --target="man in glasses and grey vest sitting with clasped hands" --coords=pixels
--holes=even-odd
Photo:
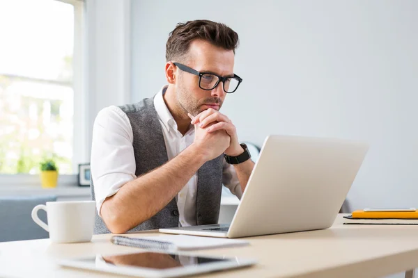
[[[224,24],[178,24],[166,47],[168,85],[153,99],[98,113],[96,234],[215,224],[222,183],[241,197],[254,163],[219,113],[242,81],[233,74],[237,46],[238,34]]]

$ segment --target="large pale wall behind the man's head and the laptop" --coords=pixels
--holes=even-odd
[[[131,8],[133,101],[164,85],[177,22],[224,22],[240,35],[235,73],[244,81],[222,108],[240,140],[367,140],[350,209],[418,206],[418,1],[132,0]]]

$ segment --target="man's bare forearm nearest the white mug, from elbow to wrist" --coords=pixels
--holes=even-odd
[[[122,234],[151,218],[205,162],[203,154],[191,145],[161,167],[126,183],[102,204],[100,212],[109,230]]]

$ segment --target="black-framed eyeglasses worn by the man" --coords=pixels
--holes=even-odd
[[[238,86],[242,82],[242,78],[236,74],[233,74],[233,76],[230,77],[223,77],[217,74],[212,74],[211,72],[198,72],[197,70],[193,70],[191,67],[187,67],[187,65],[180,63],[173,64],[180,70],[183,70],[183,72],[199,76],[199,87],[203,90],[213,90],[217,87],[217,85],[219,85],[220,81],[222,81],[224,84],[224,91],[231,94],[238,89]]]

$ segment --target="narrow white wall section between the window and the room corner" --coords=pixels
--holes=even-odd
[[[86,126],[82,138],[88,142],[85,161],[90,161],[93,122],[98,112],[130,102],[130,8],[130,0],[86,1],[86,95],[80,104],[88,111],[82,117]]]

